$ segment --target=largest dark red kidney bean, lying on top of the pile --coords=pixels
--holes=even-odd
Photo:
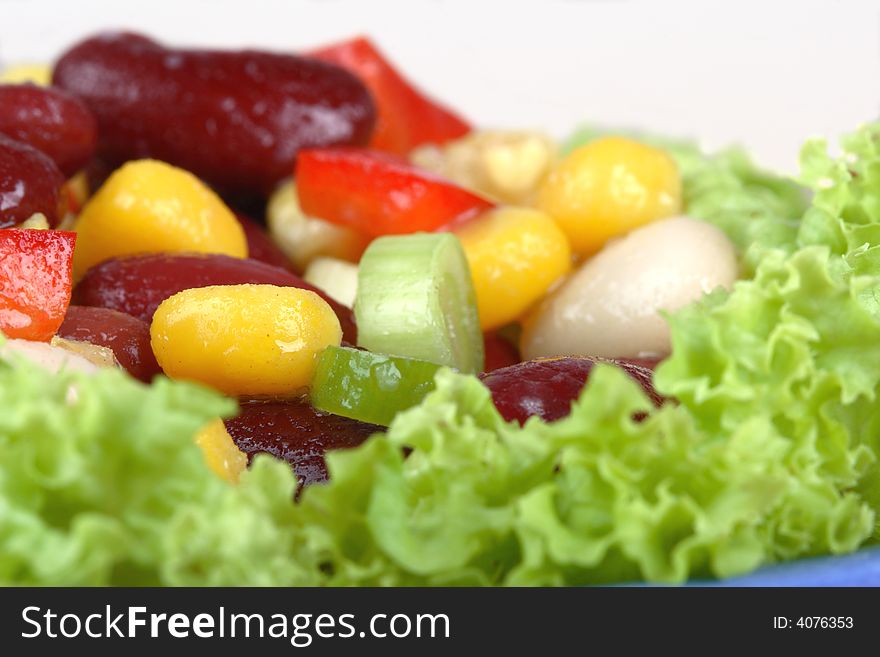
[[[302,148],[363,145],[376,111],[366,87],[317,60],[253,50],[175,50],[131,33],[87,39],[54,83],[98,119],[99,153],[154,157],[229,190],[271,191]]]

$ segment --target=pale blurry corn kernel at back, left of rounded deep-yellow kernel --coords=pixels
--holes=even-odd
[[[556,145],[535,132],[484,130],[410,154],[423,169],[512,205],[530,204],[553,165]]]

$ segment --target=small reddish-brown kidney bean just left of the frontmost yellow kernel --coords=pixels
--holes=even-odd
[[[112,349],[128,373],[146,383],[162,373],[146,322],[109,308],[70,306],[58,335]]]

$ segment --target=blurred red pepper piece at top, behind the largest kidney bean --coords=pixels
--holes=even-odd
[[[378,109],[372,148],[406,155],[421,144],[443,144],[471,131],[467,121],[410,84],[365,37],[306,55],[348,69],[370,90]]]

